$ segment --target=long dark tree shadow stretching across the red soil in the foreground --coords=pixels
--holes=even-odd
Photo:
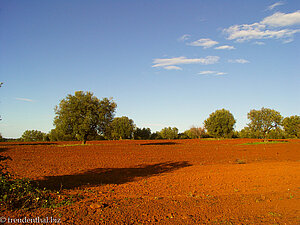
[[[81,186],[103,184],[124,184],[134,181],[136,178],[169,173],[191,165],[182,161],[140,165],[133,168],[97,168],[72,175],[46,176],[42,180],[37,180],[37,183],[40,187],[46,187],[50,190],[75,189]]]

